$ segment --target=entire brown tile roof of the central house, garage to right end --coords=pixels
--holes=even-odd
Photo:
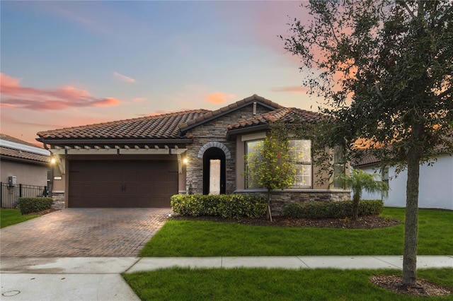
[[[244,98],[237,102],[220,108],[216,111],[210,110],[187,110],[173,112],[156,116],[147,116],[134,119],[126,119],[115,122],[105,122],[101,124],[90,124],[86,126],[75,126],[71,128],[55,129],[50,131],[38,132],[38,141],[61,141],[69,139],[76,143],[77,140],[98,140],[98,139],[184,139],[185,131],[194,126],[208,122],[241,107],[259,102],[260,105],[268,107],[272,112],[262,114],[253,119],[248,119],[238,124],[229,126],[229,129],[239,129],[256,124],[264,124],[282,120],[293,122],[299,118],[303,121],[313,121],[319,119],[320,115],[306,110],[296,108],[286,108],[275,102],[262,98],[256,94],[249,98]]]

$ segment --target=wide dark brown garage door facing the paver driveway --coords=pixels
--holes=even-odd
[[[69,207],[170,207],[176,160],[71,160]]]

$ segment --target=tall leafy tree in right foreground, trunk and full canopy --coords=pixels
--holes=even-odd
[[[449,0],[312,0],[285,49],[310,71],[303,84],[326,103],[323,146],[346,158],[367,148],[407,168],[403,287],[416,285],[420,163],[453,151],[453,5]]]

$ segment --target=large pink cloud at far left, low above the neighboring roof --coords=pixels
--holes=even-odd
[[[1,106],[28,110],[64,110],[68,107],[110,107],[116,98],[94,98],[88,91],[72,86],[57,89],[22,87],[18,78],[0,73]]]

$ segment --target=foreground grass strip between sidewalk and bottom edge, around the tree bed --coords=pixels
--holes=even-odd
[[[169,268],[122,274],[141,300],[453,300],[391,293],[369,282],[401,271]],[[453,287],[453,268],[420,270],[418,277]]]

